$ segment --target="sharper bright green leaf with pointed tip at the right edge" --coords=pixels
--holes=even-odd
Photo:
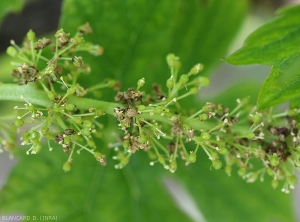
[[[273,66],[258,97],[259,109],[299,97],[300,5],[281,9],[277,14],[276,19],[253,32],[241,49],[226,58],[234,65]]]

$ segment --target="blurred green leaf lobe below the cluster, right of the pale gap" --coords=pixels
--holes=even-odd
[[[296,221],[291,196],[273,190],[269,178],[249,184],[237,176],[237,169],[228,177],[224,170],[208,170],[210,164],[202,158],[176,172],[207,221]]]

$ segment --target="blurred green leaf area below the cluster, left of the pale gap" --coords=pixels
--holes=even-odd
[[[154,179],[159,171],[149,163],[116,170],[111,159],[103,167],[83,152],[64,173],[67,155],[54,148],[54,153],[20,156],[0,194],[0,213],[57,215],[58,221],[74,222],[189,221]]]

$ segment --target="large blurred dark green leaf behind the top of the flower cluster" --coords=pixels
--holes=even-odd
[[[211,70],[226,53],[246,9],[245,0],[66,0],[60,26],[71,33],[83,23],[92,26],[89,40],[105,49],[101,58],[88,61],[97,73],[92,81],[115,77],[126,89],[145,77],[149,88],[169,78],[168,53],[181,58],[182,72],[198,62],[205,72]]]

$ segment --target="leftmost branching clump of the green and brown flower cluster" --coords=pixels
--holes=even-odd
[[[14,127],[20,128],[30,124],[28,125],[30,128],[24,127],[19,130],[22,133],[21,145],[30,146],[26,151],[27,154],[37,154],[42,148],[43,139],[48,142],[50,151],[53,149],[53,142],[58,143],[68,155],[67,161],[63,164],[65,171],[71,169],[72,155],[75,150],[77,153],[86,150],[101,165],[106,165],[106,156],[96,151],[94,140],[95,137],[99,137],[99,131],[103,127],[97,119],[105,113],[93,107],[80,110],[76,106],[76,99],[73,99],[73,102],[69,100],[70,97],[83,97],[90,91],[77,82],[80,74],[90,72],[90,67],[83,62],[81,56],[76,54],[80,51],[87,51],[95,56],[103,53],[101,46],[85,42],[84,35],[91,33],[89,24],[79,27],[72,38],[69,33],[60,29],[55,34],[54,46],[51,48],[50,39],[37,40],[35,33],[30,30],[23,47],[11,41],[11,46],[7,49],[10,56],[22,61],[13,63],[16,69],[12,71],[12,76],[16,82],[19,85],[35,84],[35,87],[42,88],[48,97],[49,105],[41,108],[33,105],[30,99],[27,100],[26,95],[20,95],[20,99],[25,101],[25,104],[15,106],[15,110],[22,114],[16,117]],[[52,51],[53,56],[45,57],[43,55],[45,50]],[[42,68],[38,69],[38,67]],[[67,75],[64,74],[66,73],[64,70],[68,71]],[[118,85],[117,81],[109,80],[102,83],[101,88],[103,86],[113,88],[116,85]],[[99,88],[99,84],[91,88]],[[13,154],[13,148],[8,148],[8,144],[12,143],[1,140],[5,149],[12,151]]]

